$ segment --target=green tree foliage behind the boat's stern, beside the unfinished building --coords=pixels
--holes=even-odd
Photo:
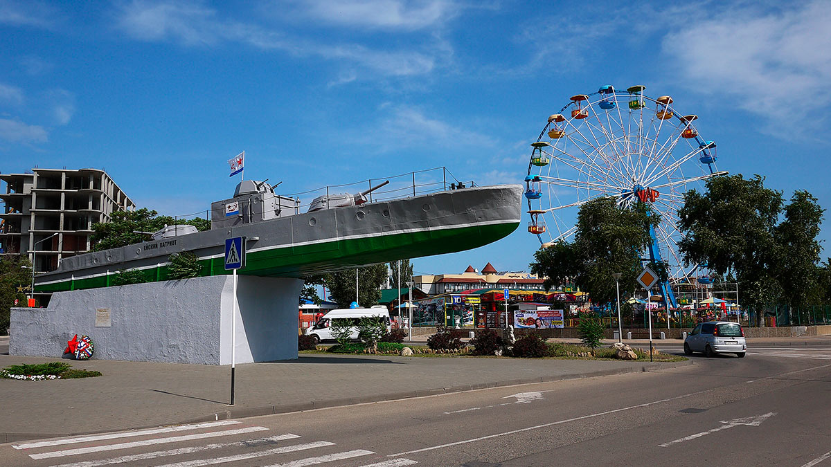
[[[110,222],[92,224],[92,250],[101,251],[144,242],[147,233],[152,234],[163,229],[165,225],[189,224],[199,231],[210,230],[208,219],[184,220],[158,214],[155,210],[147,208],[112,213]]]

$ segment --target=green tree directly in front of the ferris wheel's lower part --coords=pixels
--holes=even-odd
[[[563,241],[534,253],[531,272],[546,277],[546,288],[573,281],[593,302],[617,299],[613,273],[621,273],[621,297],[635,290],[641,253],[651,242],[650,224],[660,222],[645,204],[619,208],[616,199],[597,198],[580,207],[574,241]],[[666,264],[651,264],[666,278]]]

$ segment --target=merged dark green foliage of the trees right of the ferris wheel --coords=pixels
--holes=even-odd
[[[799,306],[806,292],[827,284],[817,265],[824,209],[807,191],[784,205],[782,193],[764,182],[760,175],[720,176],[707,179],[705,193],[687,192],[678,212],[685,236],[679,251],[688,264],[734,277],[740,302],[751,309],[779,299]]]

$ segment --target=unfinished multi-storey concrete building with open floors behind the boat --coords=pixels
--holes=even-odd
[[[115,211],[135,209],[103,170],[32,169],[0,175],[0,181],[5,182],[0,184],[2,253],[27,254],[38,273],[89,251],[92,224],[109,222]]]

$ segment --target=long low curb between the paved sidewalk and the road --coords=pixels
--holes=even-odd
[[[240,418],[248,418],[248,417],[256,417],[256,416],[263,416],[263,415],[277,415],[277,414],[289,414],[293,412],[302,412],[307,410],[317,410],[317,409],[326,409],[332,407],[344,407],[344,406],[354,406],[356,404],[369,404],[373,402],[383,402],[383,401],[403,401],[406,399],[412,399],[415,397],[425,397],[425,396],[440,396],[442,394],[453,394],[455,392],[465,392],[465,391],[475,391],[478,389],[489,389],[492,387],[504,387],[504,386],[517,386],[517,385],[525,385],[525,384],[534,384],[534,383],[542,383],[542,382],[553,382],[553,381],[569,381],[569,380],[581,380],[585,378],[594,378],[600,376],[614,376],[614,375],[624,375],[627,373],[641,373],[641,372],[652,372],[652,371],[662,371],[668,370],[671,368],[677,368],[679,366],[691,366],[695,365],[695,362],[692,360],[687,361],[673,361],[668,363],[652,363],[649,364],[645,362],[643,366],[632,366],[628,368],[612,368],[611,370],[598,370],[598,371],[589,371],[586,373],[574,373],[571,375],[550,375],[550,376],[536,376],[534,378],[520,378],[515,380],[504,380],[504,381],[495,381],[495,382],[484,382],[484,383],[475,383],[471,385],[461,385],[461,386],[449,386],[449,387],[441,387],[436,389],[420,389],[416,391],[404,391],[404,392],[391,392],[387,394],[381,395],[373,395],[373,396],[356,396],[356,397],[345,397],[342,399],[327,399],[323,401],[311,401],[311,402],[303,402],[300,404],[282,404],[279,406],[260,406],[260,407],[247,407],[247,408],[229,408],[229,410],[222,410],[219,412],[214,412],[210,415],[205,415],[201,417],[197,417],[190,420],[184,420],[175,423],[169,423],[165,426],[170,425],[188,425],[191,423],[202,423],[206,421],[217,421],[217,420],[231,420],[231,419],[240,419]],[[112,431],[129,431],[129,430],[144,430],[147,428],[155,428],[159,425],[145,425],[145,426],[133,426],[123,430],[112,430]],[[96,433],[101,433],[101,431],[84,431],[84,432],[76,432],[76,433],[59,433],[59,434],[50,434],[50,433],[15,433],[15,432],[0,432],[0,444],[5,443],[15,443],[20,441],[27,441],[27,440],[43,440],[47,438],[61,438],[66,436],[79,436],[79,435],[93,435]]]

